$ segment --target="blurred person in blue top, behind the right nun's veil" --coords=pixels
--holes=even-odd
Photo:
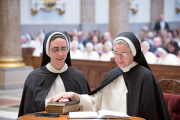
[[[154,38],[154,46],[151,48],[151,52],[156,56],[158,55],[157,48],[163,44],[161,37]]]

